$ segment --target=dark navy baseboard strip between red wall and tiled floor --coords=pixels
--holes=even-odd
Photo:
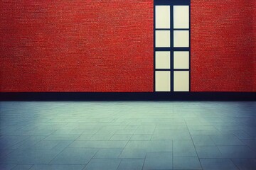
[[[256,101],[256,92],[0,92],[0,101]]]

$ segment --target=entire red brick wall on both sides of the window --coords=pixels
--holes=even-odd
[[[255,11],[191,0],[191,91],[256,91]],[[151,0],[2,1],[0,36],[0,91],[153,91]]]

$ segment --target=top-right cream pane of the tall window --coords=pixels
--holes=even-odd
[[[174,6],[174,28],[189,28],[189,6]]]

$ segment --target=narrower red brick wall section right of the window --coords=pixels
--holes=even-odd
[[[255,1],[191,1],[191,91],[256,91],[255,11]]]

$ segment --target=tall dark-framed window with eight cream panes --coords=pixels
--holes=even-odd
[[[154,1],[154,90],[190,91],[190,1]]]

